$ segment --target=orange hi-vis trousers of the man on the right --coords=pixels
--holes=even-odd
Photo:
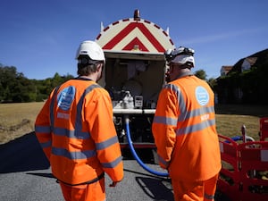
[[[214,201],[218,174],[205,181],[172,180],[175,201]]]

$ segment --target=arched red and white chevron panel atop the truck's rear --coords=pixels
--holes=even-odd
[[[133,18],[115,21],[102,29],[96,43],[104,50],[163,53],[173,49],[172,39],[159,26],[150,21]],[[138,47],[138,49],[137,49]]]

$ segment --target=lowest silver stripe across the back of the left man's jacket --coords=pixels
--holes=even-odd
[[[64,148],[52,147],[52,154],[63,156],[71,160],[87,159],[96,155],[95,150],[85,150],[80,152],[70,152]]]

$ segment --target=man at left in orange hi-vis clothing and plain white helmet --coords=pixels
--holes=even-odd
[[[104,201],[105,173],[123,178],[121,149],[108,92],[96,81],[105,54],[94,41],[80,44],[78,78],[54,88],[38,113],[35,131],[66,201]]]

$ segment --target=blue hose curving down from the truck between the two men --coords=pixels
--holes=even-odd
[[[127,138],[128,138],[128,142],[130,145],[130,151],[132,153],[132,155],[134,156],[134,158],[136,159],[136,161],[138,162],[138,164],[143,167],[143,169],[145,169],[147,172],[150,172],[152,174],[155,174],[157,176],[161,176],[161,177],[168,177],[169,174],[167,172],[156,172],[152,169],[150,169],[145,163],[143,163],[140,158],[138,157],[133,145],[132,145],[132,140],[130,138],[130,119],[126,118],[126,130],[127,130]]]

